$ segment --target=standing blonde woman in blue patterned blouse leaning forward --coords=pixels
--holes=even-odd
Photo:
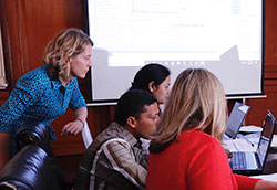
[[[0,107],[0,169],[16,154],[14,135],[24,124],[43,123],[53,131],[51,122],[70,106],[75,117],[62,128],[62,134],[82,130],[88,112],[76,77],[84,78],[92,66],[92,46],[81,30],[63,30],[48,44],[44,65],[18,80]]]

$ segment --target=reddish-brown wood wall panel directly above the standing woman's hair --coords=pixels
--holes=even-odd
[[[42,65],[44,48],[54,35],[65,28],[84,29],[82,0],[25,0],[19,1],[27,49],[31,63],[28,70]],[[31,42],[31,43],[29,43]]]

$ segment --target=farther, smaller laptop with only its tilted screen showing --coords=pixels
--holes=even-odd
[[[225,136],[226,139],[235,139],[250,106],[236,102],[229,114]]]

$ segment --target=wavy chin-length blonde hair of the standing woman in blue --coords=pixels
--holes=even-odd
[[[92,45],[92,40],[79,29],[65,29],[61,31],[47,46],[43,63],[48,65],[48,74],[51,80],[59,76],[68,82],[70,78],[69,59],[82,53],[86,45]]]

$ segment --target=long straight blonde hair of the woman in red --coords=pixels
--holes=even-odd
[[[160,152],[182,131],[192,129],[203,130],[222,142],[226,120],[225,93],[217,77],[204,68],[185,70],[173,85],[150,150]]]

